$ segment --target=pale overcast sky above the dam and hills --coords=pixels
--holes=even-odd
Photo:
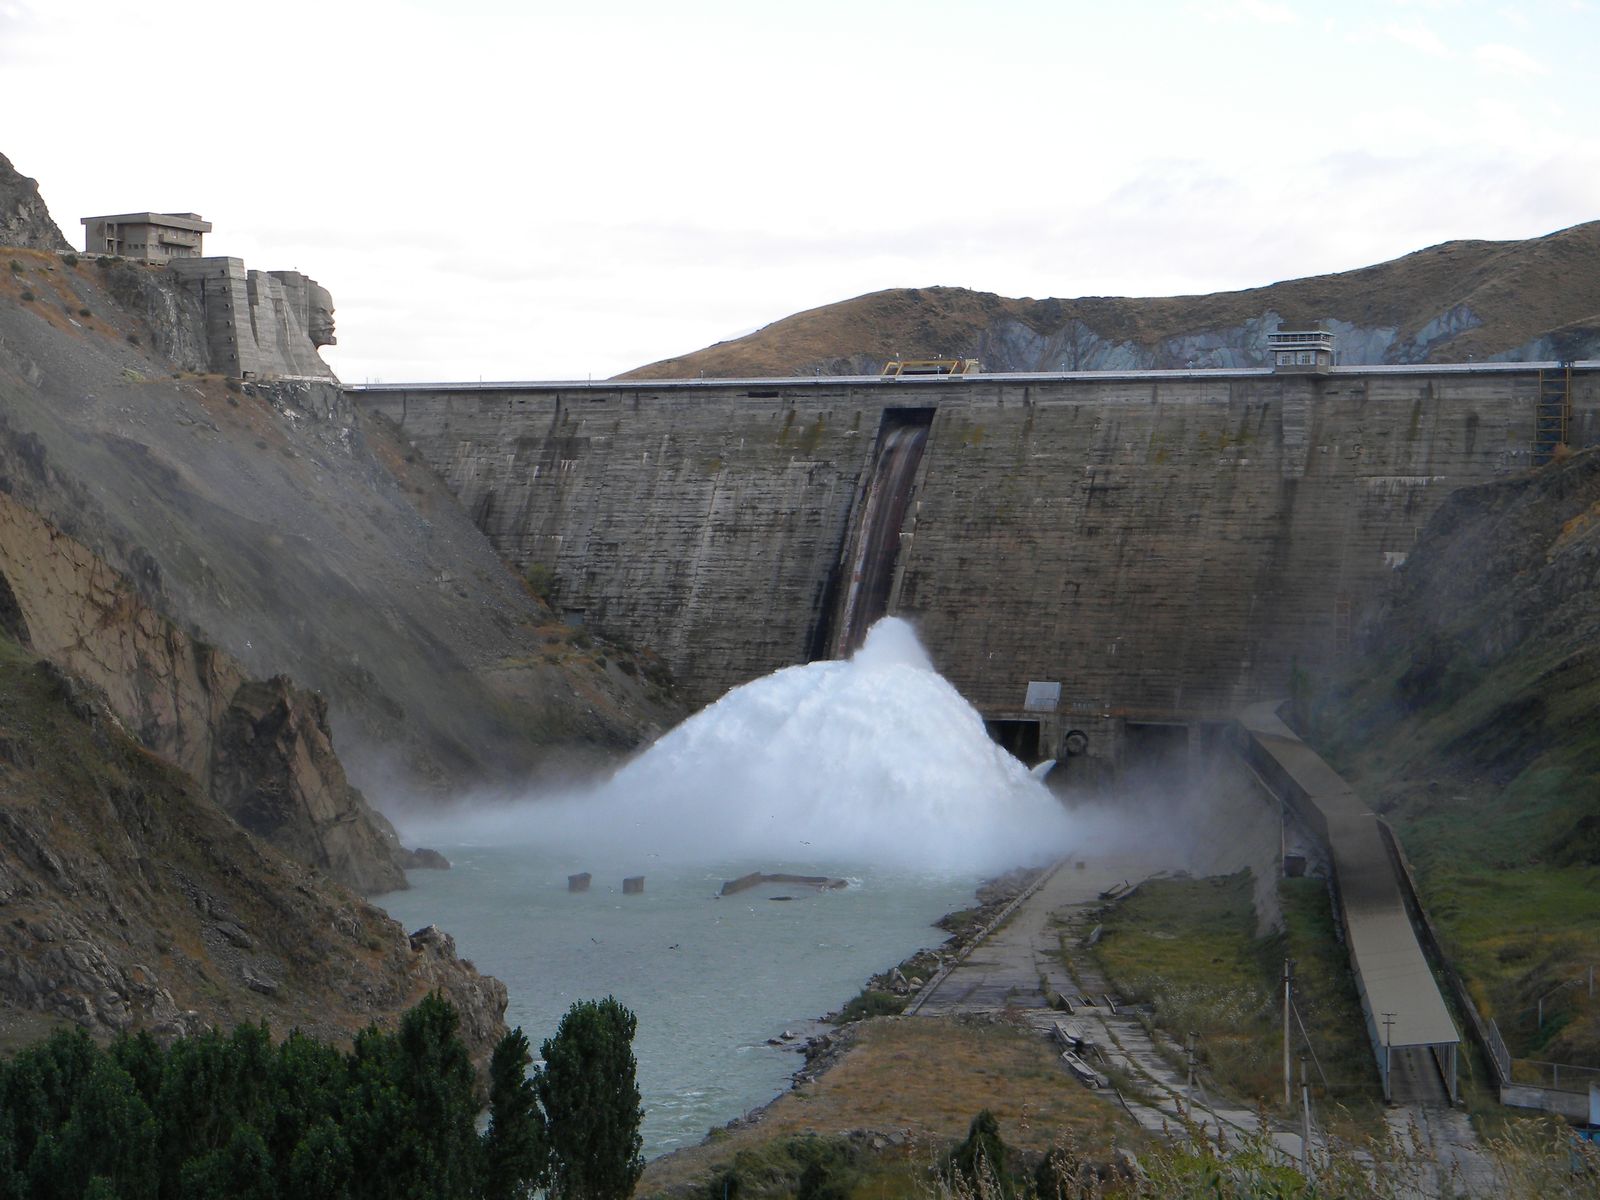
[[[1597,46],[1586,0],[0,0],[0,152],[75,245],[187,210],[312,275],[347,382],[582,379],[1595,219]]]

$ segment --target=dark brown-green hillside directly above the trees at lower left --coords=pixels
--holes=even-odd
[[[72,1021],[158,1037],[267,1021],[342,1038],[430,990],[475,1054],[506,989],[253,838],[93,686],[0,635],[0,1046]]]

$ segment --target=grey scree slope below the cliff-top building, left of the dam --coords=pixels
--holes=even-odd
[[[248,675],[322,691],[379,806],[557,770],[672,720],[629,654],[578,645],[336,386],[186,371],[190,301],[165,272],[10,253],[0,488]]]

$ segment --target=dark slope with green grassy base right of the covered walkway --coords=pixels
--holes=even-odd
[[[1363,640],[1315,741],[1512,1051],[1600,1062],[1600,450],[1451,494]]]

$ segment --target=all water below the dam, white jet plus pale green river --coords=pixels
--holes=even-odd
[[[534,1046],[574,1000],[634,1010],[651,1155],[782,1091],[800,1058],[768,1038],[944,941],[933,922],[970,907],[979,878],[1048,862],[1074,834],[896,618],[848,661],[734,688],[590,787],[400,824],[454,869],[411,872],[384,904],[502,979]],[[752,870],[850,886],[717,899]],[[570,893],[579,872],[594,882]]]

